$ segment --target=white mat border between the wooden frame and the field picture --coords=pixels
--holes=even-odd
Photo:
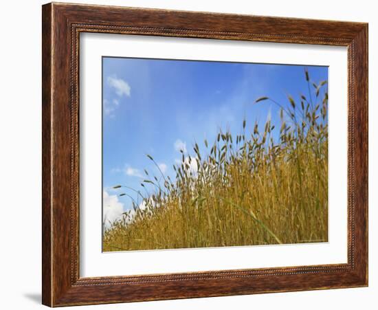
[[[214,54],[213,51],[217,51]],[[329,65],[329,242],[296,245],[101,252],[101,56]],[[347,262],[346,47],[80,35],[80,276],[164,274]],[[124,263],[131,261],[133,263]],[[151,264],[150,262],[153,262]]]

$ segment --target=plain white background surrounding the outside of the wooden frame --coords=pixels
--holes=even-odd
[[[82,3],[129,5],[177,10],[234,12],[369,22],[370,89],[370,286],[297,293],[231,296],[192,300],[140,302],[78,309],[375,309],[378,294],[378,21],[375,1],[96,1]],[[3,309],[41,309],[41,4],[5,1],[1,5],[1,256]],[[373,55],[373,56],[371,56]],[[375,141],[374,141],[375,140]]]

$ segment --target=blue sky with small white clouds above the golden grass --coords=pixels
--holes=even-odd
[[[109,195],[131,190],[112,190],[121,184],[143,190],[144,168],[159,177],[146,154],[153,156],[165,175],[174,176],[173,164],[181,158],[179,148],[193,155],[206,138],[210,144],[219,129],[241,133],[255,120],[279,124],[279,108],[271,102],[254,104],[267,96],[289,104],[308,96],[304,66],[220,63],[190,60],[102,58],[102,186]],[[327,67],[307,67],[311,80],[327,80]],[[311,89],[312,90],[312,89]],[[279,126],[278,126],[279,127]],[[152,190],[152,188],[148,188]],[[124,210],[129,197],[118,197]],[[140,202],[140,201],[139,201]]]

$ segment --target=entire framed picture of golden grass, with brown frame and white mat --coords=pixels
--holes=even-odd
[[[368,285],[368,25],[43,5],[43,304]]]

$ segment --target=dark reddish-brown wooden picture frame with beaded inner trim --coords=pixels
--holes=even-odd
[[[260,294],[368,285],[368,24],[43,5],[43,304]],[[348,47],[348,263],[81,278],[79,34],[101,32]]]

